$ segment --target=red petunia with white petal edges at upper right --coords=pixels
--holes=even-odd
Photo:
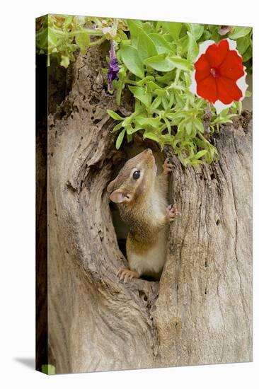
[[[235,49],[233,40],[224,39],[218,44],[208,40],[200,45],[194,64],[191,90],[214,104],[217,112],[245,97],[246,71]]]

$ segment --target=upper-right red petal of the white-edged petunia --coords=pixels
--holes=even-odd
[[[242,58],[235,50],[231,50],[226,54],[226,58],[219,66],[221,76],[231,80],[238,80],[243,76],[243,63]]]

